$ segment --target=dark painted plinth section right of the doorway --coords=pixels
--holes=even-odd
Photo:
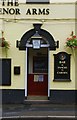
[[[77,91],[75,90],[50,90],[52,103],[77,104]]]

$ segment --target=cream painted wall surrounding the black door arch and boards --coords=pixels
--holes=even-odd
[[[26,52],[19,51],[16,48],[16,40],[20,40],[21,37],[30,29],[33,29],[34,23],[42,23],[42,29],[48,31],[55,39],[59,40],[60,46],[56,51],[49,51],[49,88],[50,89],[63,89],[74,90],[75,79],[77,80],[77,67],[75,71],[75,64],[77,63],[77,54],[74,56],[70,49],[66,49],[65,41],[69,37],[71,31],[75,32],[75,4],[50,4],[40,5],[40,8],[49,8],[50,14],[40,16],[24,15],[27,8],[39,8],[39,5],[26,5],[21,4],[22,15],[5,15],[2,30],[4,30],[4,36],[10,43],[10,49],[8,51],[8,58],[12,60],[11,69],[11,86],[3,86],[3,89],[24,89],[25,88],[25,75],[26,75]],[[70,10],[69,10],[70,9]],[[0,16],[1,17],[1,16]],[[1,49],[1,48],[0,48]],[[71,82],[53,82],[54,79],[54,56],[58,52],[65,51],[71,55]],[[5,58],[5,54],[0,58]],[[76,63],[75,63],[76,62]],[[76,64],[77,65],[77,64]],[[21,74],[15,76],[13,73],[14,66],[21,67]],[[1,88],[1,87],[0,87]]]

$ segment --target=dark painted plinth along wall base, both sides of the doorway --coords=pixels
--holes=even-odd
[[[6,103],[24,103],[25,90],[3,89],[0,90],[1,100]],[[77,91],[75,90],[50,90],[49,100],[55,104],[77,104]]]

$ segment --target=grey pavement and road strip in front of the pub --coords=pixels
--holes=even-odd
[[[2,108],[1,108],[2,107]],[[41,120],[53,118],[75,120],[77,113],[77,105],[74,104],[55,104],[48,101],[28,101],[23,104],[3,104],[1,120],[9,119],[27,119],[35,118]]]

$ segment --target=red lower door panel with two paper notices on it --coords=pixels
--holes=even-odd
[[[28,95],[48,95],[48,74],[28,74]]]

